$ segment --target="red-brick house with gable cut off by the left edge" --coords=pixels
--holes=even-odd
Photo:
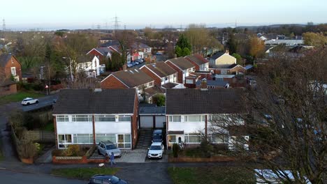
[[[13,77],[13,80],[12,80]],[[22,80],[22,65],[13,54],[0,55],[0,96],[17,92],[16,82]]]

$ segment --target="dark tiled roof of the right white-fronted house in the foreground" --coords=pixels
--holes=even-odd
[[[240,89],[167,89],[166,114],[244,112]]]

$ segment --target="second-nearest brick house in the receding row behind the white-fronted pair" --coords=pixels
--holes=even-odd
[[[140,68],[154,79],[154,84],[161,86],[167,83],[177,83],[177,71],[164,62],[147,64]]]

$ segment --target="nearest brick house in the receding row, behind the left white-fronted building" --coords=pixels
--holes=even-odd
[[[154,79],[138,68],[130,68],[112,72],[101,81],[101,89],[136,89],[138,98],[143,100],[145,94],[147,102],[152,102],[152,95],[162,93],[154,86]],[[144,91],[143,91],[144,90]]]

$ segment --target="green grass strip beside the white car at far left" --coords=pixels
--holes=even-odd
[[[9,103],[9,102],[20,102],[24,98],[31,97],[31,98],[39,98],[44,96],[41,93],[35,93],[33,91],[18,91],[15,94],[5,95],[0,97],[0,105]]]

